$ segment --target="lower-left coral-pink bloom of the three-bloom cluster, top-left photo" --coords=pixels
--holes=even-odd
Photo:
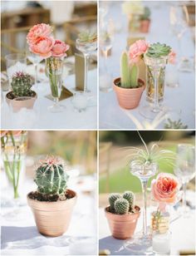
[[[34,44],[30,45],[30,51],[39,54],[43,58],[51,57],[51,49],[55,44],[53,37],[39,37]]]

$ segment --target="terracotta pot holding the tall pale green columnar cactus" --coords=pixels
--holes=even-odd
[[[138,88],[122,88],[116,86],[120,81],[120,77],[116,78],[114,81],[114,90],[119,101],[119,105],[125,109],[133,109],[137,107],[140,103],[140,98],[143,91],[145,90],[145,81],[138,79],[138,82],[142,85]]]

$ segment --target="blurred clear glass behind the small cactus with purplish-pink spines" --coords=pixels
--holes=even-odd
[[[17,71],[26,71],[27,69],[27,57],[22,53],[12,53],[5,57],[7,76],[9,86],[11,86],[12,76]]]

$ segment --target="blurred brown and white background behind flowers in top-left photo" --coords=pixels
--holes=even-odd
[[[96,1],[1,1],[1,62],[9,53],[21,53],[26,48],[30,27],[49,23],[56,38],[66,41],[76,51],[75,41],[79,31],[96,31]]]

